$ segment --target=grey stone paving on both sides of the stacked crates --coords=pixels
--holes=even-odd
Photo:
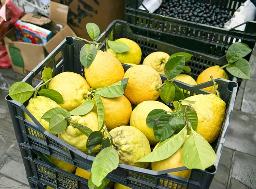
[[[256,189],[256,51],[250,59],[251,80],[243,81],[211,189]],[[23,79],[0,69],[10,85]],[[35,82],[36,83],[36,82]],[[0,91],[0,188],[29,189],[12,121]]]

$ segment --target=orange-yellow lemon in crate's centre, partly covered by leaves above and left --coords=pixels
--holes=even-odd
[[[132,108],[130,101],[124,95],[116,98],[101,97],[101,99],[105,113],[104,121],[109,131],[129,123]],[[93,107],[93,112],[97,112],[96,105]]]

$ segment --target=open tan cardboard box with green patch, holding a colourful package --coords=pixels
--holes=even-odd
[[[12,69],[19,74],[27,75],[47,54],[52,52],[62,40],[67,36],[76,36],[76,33],[67,25],[68,6],[50,2],[49,18],[34,14],[26,14],[21,20],[42,26],[46,23],[61,24],[63,29],[52,37],[44,46],[32,43],[17,42],[14,29],[10,29],[4,36],[7,52],[11,59]],[[55,60],[61,58],[61,52],[57,54]],[[40,79],[40,76],[37,78]]]

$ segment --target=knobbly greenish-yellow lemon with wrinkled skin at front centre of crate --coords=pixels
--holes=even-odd
[[[113,146],[117,148],[119,163],[146,168],[148,162],[137,162],[151,152],[147,137],[132,126],[119,126],[112,129]]]

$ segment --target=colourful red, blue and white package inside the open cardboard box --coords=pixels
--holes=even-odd
[[[52,31],[31,23],[17,20],[14,24],[17,41],[45,45],[52,38]]]

